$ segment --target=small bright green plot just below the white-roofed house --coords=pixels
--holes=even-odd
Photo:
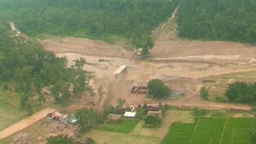
[[[107,123],[104,125],[100,125],[96,129],[102,130],[102,131],[109,131],[109,132],[120,132],[127,134],[129,132],[132,132],[134,127],[138,124],[140,120],[137,119],[124,119],[122,122],[116,124],[116,123]]]

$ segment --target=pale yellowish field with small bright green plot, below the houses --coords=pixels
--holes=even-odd
[[[124,119],[122,123],[100,125],[86,134],[83,138],[93,138],[97,143],[108,144],[159,144],[168,133],[173,122],[193,124],[192,111],[170,110],[163,117],[163,124],[156,129],[145,129],[143,120]]]

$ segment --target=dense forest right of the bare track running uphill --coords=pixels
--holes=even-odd
[[[255,0],[182,0],[179,36],[192,39],[255,42]]]

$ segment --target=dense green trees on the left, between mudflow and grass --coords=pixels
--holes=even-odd
[[[0,79],[15,83],[12,85],[20,93],[22,108],[30,109],[29,98],[33,95],[44,98],[44,88],[49,88],[60,104],[66,104],[72,96],[79,97],[88,81],[81,68],[84,61],[77,60],[69,68],[66,58],[57,58],[36,42],[12,37],[6,27],[0,26]]]

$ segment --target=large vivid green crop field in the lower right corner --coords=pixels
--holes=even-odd
[[[161,144],[252,144],[253,118],[195,118],[174,123]]]

